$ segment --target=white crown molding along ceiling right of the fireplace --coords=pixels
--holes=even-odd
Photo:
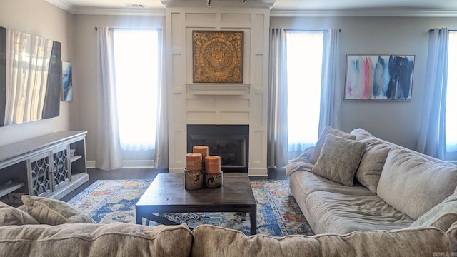
[[[457,10],[348,9],[348,10],[274,10],[276,17],[456,17]]]

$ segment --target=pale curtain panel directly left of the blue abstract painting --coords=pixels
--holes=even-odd
[[[328,29],[323,34],[323,60],[319,134],[325,126],[341,129],[342,84],[339,73],[340,29]]]

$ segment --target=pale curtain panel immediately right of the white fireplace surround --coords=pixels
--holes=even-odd
[[[287,51],[284,29],[271,29],[268,71],[268,150],[269,167],[283,167],[287,153]]]

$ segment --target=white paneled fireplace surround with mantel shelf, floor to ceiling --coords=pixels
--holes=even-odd
[[[188,124],[242,124],[249,126],[248,176],[268,176],[268,31],[274,1],[249,2],[251,7],[224,9],[218,8],[216,3],[211,8],[183,8],[176,1],[166,6],[171,173],[184,171]],[[244,31],[242,84],[191,82],[193,30]]]

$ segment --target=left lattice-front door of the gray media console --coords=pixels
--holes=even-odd
[[[29,193],[33,196],[46,196],[52,193],[51,156],[44,153],[27,161],[29,173]]]

